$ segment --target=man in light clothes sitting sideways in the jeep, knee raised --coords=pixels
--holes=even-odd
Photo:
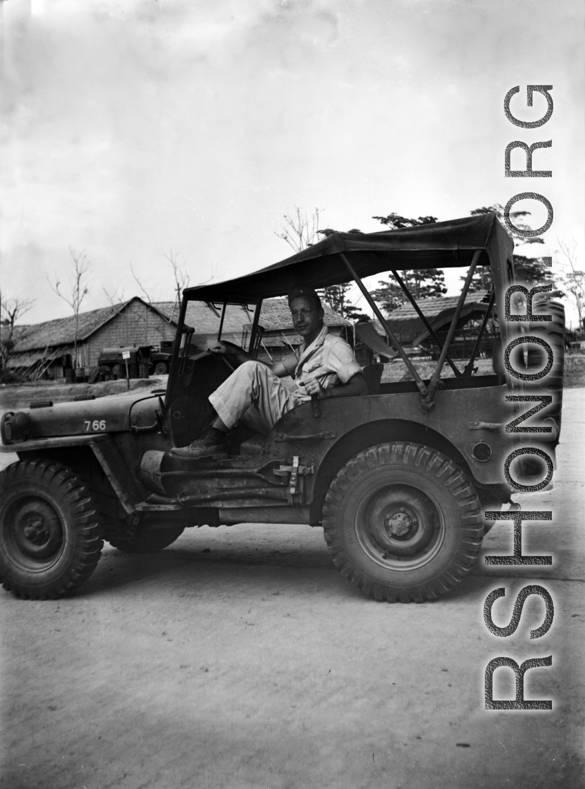
[[[297,353],[275,365],[255,361],[243,350],[223,342],[210,349],[212,353],[235,357],[240,367],[210,395],[216,416],[203,435],[170,454],[194,460],[225,458],[227,433],[240,421],[267,436],[287,411],[314,394],[321,400],[367,394],[367,384],[351,346],[341,337],[330,335],[323,324],[321,299],[315,290],[306,285],[292,288],[289,308],[292,325],[304,342]],[[294,390],[278,380],[285,376],[294,379]]]

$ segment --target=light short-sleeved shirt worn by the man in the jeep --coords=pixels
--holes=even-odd
[[[351,346],[341,337],[330,335],[326,326],[310,346],[303,343],[295,355],[298,361],[292,377],[296,383],[295,394],[301,400],[311,399],[303,386],[306,380],[318,380],[327,389],[340,381],[348,383],[357,372],[362,372]]]

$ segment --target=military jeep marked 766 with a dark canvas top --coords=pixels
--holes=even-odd
[[[554,364],[535,384],[538,394],[552,395],[542,412],[549,427],[538,433],[551,458],[561,426],[562,307],[541,305],[552,317],[534,326],[504,320],[505,292],[515,283],[512,248],[495,214],[340,233],[253,274],[185,290],[166,390],[32,403],[2,418],[2,451],[19,457],[0,474],[4,588],[24,598],[58,597],[90,576],[102,540],[129,553],[156,552],[185,528],[252,522],[322,527],[333,563],[378,600],[430,600],[452,589],[478,558],[483,510],[511,502],[505,459],[527,439],[534,446],[534,436],[506,432],[527,411],[506,396],[534,393],[526,371],[544,365],[524,346],[509,359],[525,380],[510,374],[501,350],[493,372],[475,374],[490,316],[499,320],[503,347],[538,330],[553,348]],[[449,343],[481,266],[490,267],[493,285],[471,358],[457,366]],[[462,267],[467,275],[434,372],[423,380],[363,278],[392,272],[436,338],[399,273],[435,267]],[[267,436],[240,426],[227,458],[173,458],[172,447],[188,445],[210,423],[207,398],[233,371],[233,357],[209,352],[209,335],[192,325],[196,302],[217,316],[217,338],[255,357],[263,348],[264,299],[300,282],[323,288],[348,280],[387,334],[383,342],[366,324],[360,339],[404,365],[404,380],[382,382],[383,365],[367,365],[367,395],[314,398]],[[538,481],[542,469],[522,459],[512,466],[515,479]]]

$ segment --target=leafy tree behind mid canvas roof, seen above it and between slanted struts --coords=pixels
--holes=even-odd
[[[391,230],[398,230],[401,227],[415,227],[419,225],[430,225],[437,221],[436,216],[419,216],[417,219],[401,216],[392,213],[387,216],[374,216],[383,225]],[[408,287],[411,294],[418,300],[421,298],[433,298],[443,296],[447,292],[445,287],[445,274],[438,268],[415,269],[408,268],[401,271],[401,279]],[[371,291],[372,297],[378,301],[386,312],[401,307],[408,302],[407,297],[401,286],[393,279],[378,282],[379,287]]]

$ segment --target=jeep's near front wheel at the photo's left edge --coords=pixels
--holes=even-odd
[[[49,460],[0,473],[0,581],[17,597],[61,597],[86,581],[102,551],[101,522],[88,488]]]

